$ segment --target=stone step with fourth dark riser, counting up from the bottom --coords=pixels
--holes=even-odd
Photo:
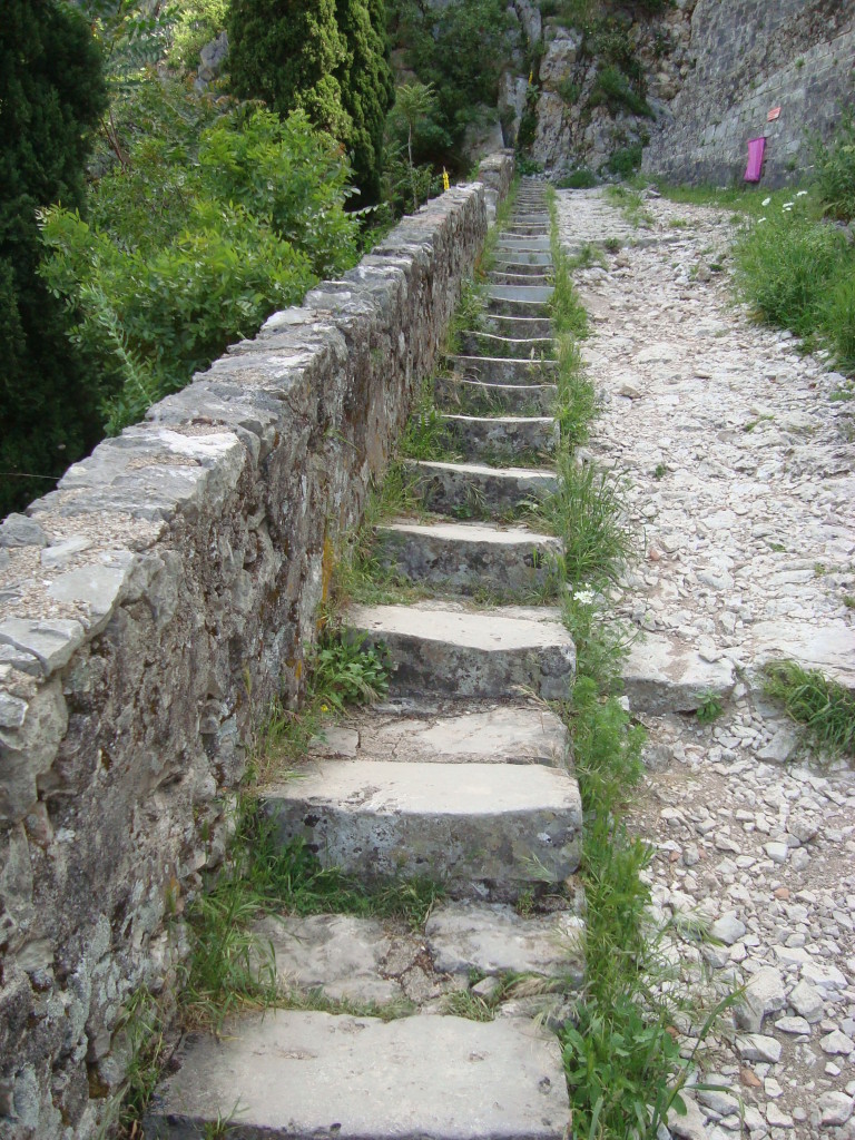
[[[426,511],[456,519],[495,518],[555,491],[553,471],[477,463],[406,461]]]

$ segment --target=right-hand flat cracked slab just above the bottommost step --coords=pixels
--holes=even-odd
[[[542,974],[585,976],[578,914],[522,918],[500,903],[443,903],[427,919],[425,938],[433,964],[445,974]]]

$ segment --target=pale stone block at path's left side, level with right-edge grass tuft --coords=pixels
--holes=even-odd
[[[678,642],[656,634],[633,644],[624,662],[624,684],[637,712],[693,712],[706,697],[730,697],[736,683],[724,658],[706,661]]]

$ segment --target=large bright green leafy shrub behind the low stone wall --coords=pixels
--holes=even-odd
[[[60,207],[43,217],[43,277],[74,315],[112,432],[356,260],[332,140],[302,112],[282,122],[238,107],[210,122],[197,101],[148,91],[140,104],[163,132],[132,139],[128,165],[93,186],[91,223]]]

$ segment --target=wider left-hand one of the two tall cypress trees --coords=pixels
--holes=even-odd
[[[348,55],[335,0],[233,0],[228,16],[231,87],[285,117],[302,107],[312,123],[345,141],[339,70]]]

